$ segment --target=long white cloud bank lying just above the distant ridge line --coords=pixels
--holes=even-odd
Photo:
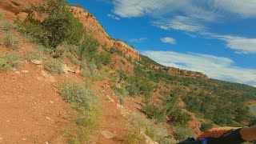
[[[207,54],[181,54],[173,51],[143,51],[142,54],[165,66],[200,71],[210,78],[256,86],[256,70],[235,66],[230,58]]]

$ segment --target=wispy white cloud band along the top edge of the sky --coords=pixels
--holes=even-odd
[[[120,17],[162,15],[178,10],[192,18],[213,21],[228,14],[242,18],[256,18],[255,0],[114,0],[114,14]]]

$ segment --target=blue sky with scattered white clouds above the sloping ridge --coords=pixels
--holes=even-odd
[[[70,0],[155,61],[256,86],[255,0]]]

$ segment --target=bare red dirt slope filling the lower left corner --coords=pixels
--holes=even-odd
[[[64,143],[74,110],[41,68],[21,67],[0,73],[0,143]]]

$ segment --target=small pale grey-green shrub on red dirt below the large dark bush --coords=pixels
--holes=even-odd
[[[50,73],[58,73],[62,74],[63,72],[63,63],[60,59],[52,58],[46,62],[44,62],[45,69]]]

